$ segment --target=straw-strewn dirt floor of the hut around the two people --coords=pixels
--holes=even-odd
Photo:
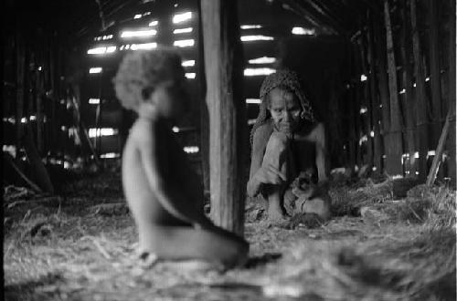
[[[314,229],[271,227],[249,200],[250,261],[221,272],[142,267],[118,174],[65,197],[4,187],[5,300],[455,300],[455,192],[395,190],[334,184],[336,216]]]

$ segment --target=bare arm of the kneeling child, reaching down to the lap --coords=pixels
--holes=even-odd
[[[205,226],[212,224],[203,210],[199,211],[196,203],[190,201],[191,196],[186,196],[182,190],[176,187],[172,178],[167,178],[164,158],[166,151],[159,151],[160,136],[163,133],[157,127],[155,122],[138,123],[134,129],[136,144],[140,151],[143,169],[151,189],[156,194],[158,202],[164,206],[165,210],[174,215],[176,218],[191,224],[200,224]],[[165,143],[165,140],[162,140]],[[175,167],[179,168],[179,167]],[[168,176],[169,177],[169,176]]]

